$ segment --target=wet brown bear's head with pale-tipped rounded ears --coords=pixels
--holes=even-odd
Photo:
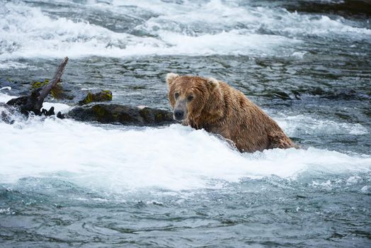
[[[166,75],[173,118],[184,124],[202,126],[222,115],[222,91],[214,78]]]

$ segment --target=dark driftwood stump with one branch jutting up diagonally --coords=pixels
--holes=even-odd
[[[59,64],[59,67],[57,68],[57,71],[55,72],[54,77],[50,82],[43,86],[40,89],[34,89],[30,96],[21,96],[18,98],[13,98],[10,101],[8,101],[6,104],[15,106],[20,108],[21,113],[28,114],[30,111],[35,113],[36,115],[41,115],[42,113],[46,115],[54,114],[54,108],[51,108],[49,111],[45,111],[42,108],[42,103],[44,102],[45,98],[48,94],[50,94],[50,91],[58,84],[60,81],[64,67],[66,67],[66,64],[68,62],[68,57],[65,57],[64,60]]]

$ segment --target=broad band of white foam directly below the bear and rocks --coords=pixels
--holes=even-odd
[[[53,176],[105,191],[217,187],[275,174],[295,178],[307,170],[367,172],[371,157],[318,150],[266,150],[240,154],[226,142],[181,125],[109,128],[39,117],[0,123],[0,182]]]

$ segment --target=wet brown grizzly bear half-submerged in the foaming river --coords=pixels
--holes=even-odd
[[[240,152],[295,147],[275,121],[241,91],[214,78],[166,75],[173,118],[222,135]]]

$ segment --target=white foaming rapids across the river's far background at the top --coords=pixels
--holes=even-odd
[[[151,18],[134,27],[132,35],[57,15],[50,17],[22,1],[4,4],[0,18],[0,68],[28,67],[12,62],[19,57],[125,57],[137,55],[280,55],[301,57],[307,35],[346,35],[367,40],[371,30],[350,26],[346,20],[290,13],[284,9],[238,6],[234,1],[173,4],[164,1],[66,1],[70,8],[102,11],[103,15]],[[133,12],[134,11],[134,12]],[[262,31],[265,30],[265,31]],[[265,34],[265,33],[269,33]],[[274,35],[273,35],[274,34]]]

